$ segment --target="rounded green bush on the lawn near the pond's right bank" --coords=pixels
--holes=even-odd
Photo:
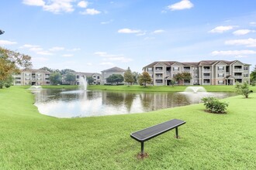
[[[203,105],[206,106],[206,110],[213,114],[225,114],[228,104],[221,102],[216,97],[203,97]]]

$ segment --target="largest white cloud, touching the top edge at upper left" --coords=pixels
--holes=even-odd
[[[61,12],[73,12],[74,8],[71,4],[74,0],[23,0],[23,4],[42,6],[44,11],[53,12],[55,14]]]

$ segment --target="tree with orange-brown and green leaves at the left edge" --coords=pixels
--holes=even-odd
[[[0,47],[0,82],[5,82],[13,73],[19,73],[19,67],[32,66],[31,57]]]

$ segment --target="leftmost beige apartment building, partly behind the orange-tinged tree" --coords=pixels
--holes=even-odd
[[[13,85],[50,85],[50,72],[46,70],[21,70],[13,78]]]

